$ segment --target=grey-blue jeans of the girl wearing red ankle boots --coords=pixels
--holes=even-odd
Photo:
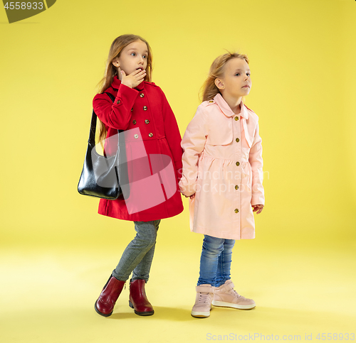
[[[132,239],[123,252],[112,276],[120,281],[126,281],[132,272],[132,281],[148,281],[150,269],[155,254],[157,230],[160,219],[151,222],[134,222],[135,239]]]

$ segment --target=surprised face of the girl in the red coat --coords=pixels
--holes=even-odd
[[[121,50],[120,56],[112,60],[112,65],[119,67],[126,75],[135,72],[137,69],[146,70],[148,49],[145,42],[136,40]]]

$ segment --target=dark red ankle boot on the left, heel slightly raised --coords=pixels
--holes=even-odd
[[[117,298],[122,291],[126,281],[119,281],[117,278],[110,276],[108,282],[101,291],[98,300],[95,302],[95,311],[99,315],[109,317],[114,310]]]

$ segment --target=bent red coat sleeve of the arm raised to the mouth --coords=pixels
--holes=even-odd
[[[95,114],[106,126],[126,130],[130,124],[131,109],[138,93],[137,89],[120,85],[113,103],[108,94],[96,94],[93,99]]]

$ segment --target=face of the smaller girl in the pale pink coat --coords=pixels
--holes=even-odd
[[[234,98],[248,95],[251,89],[251,75],[246,60],[233,58],[226,62],[224,77],[216,81],[218,82],[216,86],[223,95]]]

